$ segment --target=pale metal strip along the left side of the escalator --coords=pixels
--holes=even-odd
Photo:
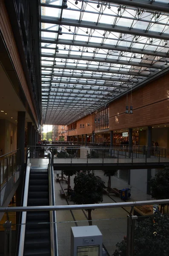
[[[27,206],[28,201],[28,188],[29,188],[29,175],[31,170],[31,163],[26,167],[26,177],[25,177],[25,188],[24,188],[24,198],[23,206]],[[26,212],[22,213],[21,229],[20,229],[20,242],[19,242],[19,252],[18,256],[23,256],[24,241],[25,241],[25,229],[26,229]]]

